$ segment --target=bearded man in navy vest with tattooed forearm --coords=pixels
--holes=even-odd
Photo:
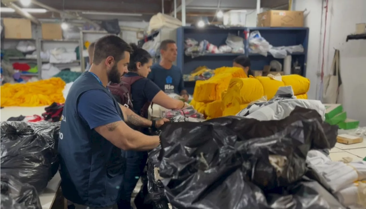
[[[112,209],[126,168],[122,150],[147,151],[159,145],[135,126],[159,128],[167,119],[149,121],[117,103],[107,88],[127,72],[131,47],[115,35],[100,38],[93,63],[70,88],[59,136],[61,188],[76,209]]]

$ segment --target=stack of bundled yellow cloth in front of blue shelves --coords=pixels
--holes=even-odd
[[[292,86],[298,99],[307,99],[310,80],[300,75],[247,77],[242,68],[221,67],[205,81],[196,81],[191,105],[207,118],[235,115],[249,103],[275,96],[279,87]]]

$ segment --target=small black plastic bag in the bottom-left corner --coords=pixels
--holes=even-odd
[[[0,176],[0,208],[42,209],[36,189],[14,177]]]

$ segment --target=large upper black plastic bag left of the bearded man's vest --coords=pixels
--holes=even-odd
[[[59,159],[53,148],[55,141],[35,133],[30,125],[25,126],[27,123],[11,124],[14,126],[0,123],[0,175],[12,175],[40,192],[59,167]],[[38,131],[42,132],[40,129]]]

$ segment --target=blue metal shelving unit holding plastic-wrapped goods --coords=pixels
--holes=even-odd
[[[222,66],[232,66],[232,62],[235,57],[242,54],[206,54],[192,58],[184,54],[184,40],[187,38],[193,38],[196,41],[207,40],[210,43],[220,46],[225,44],[225,40],[229,33],[238,35],[244,38],[244,47],[246,56],[250,57],[251,69],[262,70],[265,65],[269,65],[270,61],[278,60],[283,64],[283,59],[276,59],[268,53],[267,57],[260,54],[249,53],[249,41],[245,37],[245,34],[249,34],[255,30],[258,30],[271,45],[273,46],[293,46],[303,45],[303,53],[293,53],[292,63],[298,60],[302,73],[306,75],[306,58],[307,47],[309,39],[309,28],[306,27],[230,27],[230,28],[196,28],[193,26],[184,26],[177,29],[177,66],[182,69],[183,74],[189,74],[198,66],[207,66],[208,68],[215,69]],[[193,93],[194,81],[185,82],[187,91]]]

